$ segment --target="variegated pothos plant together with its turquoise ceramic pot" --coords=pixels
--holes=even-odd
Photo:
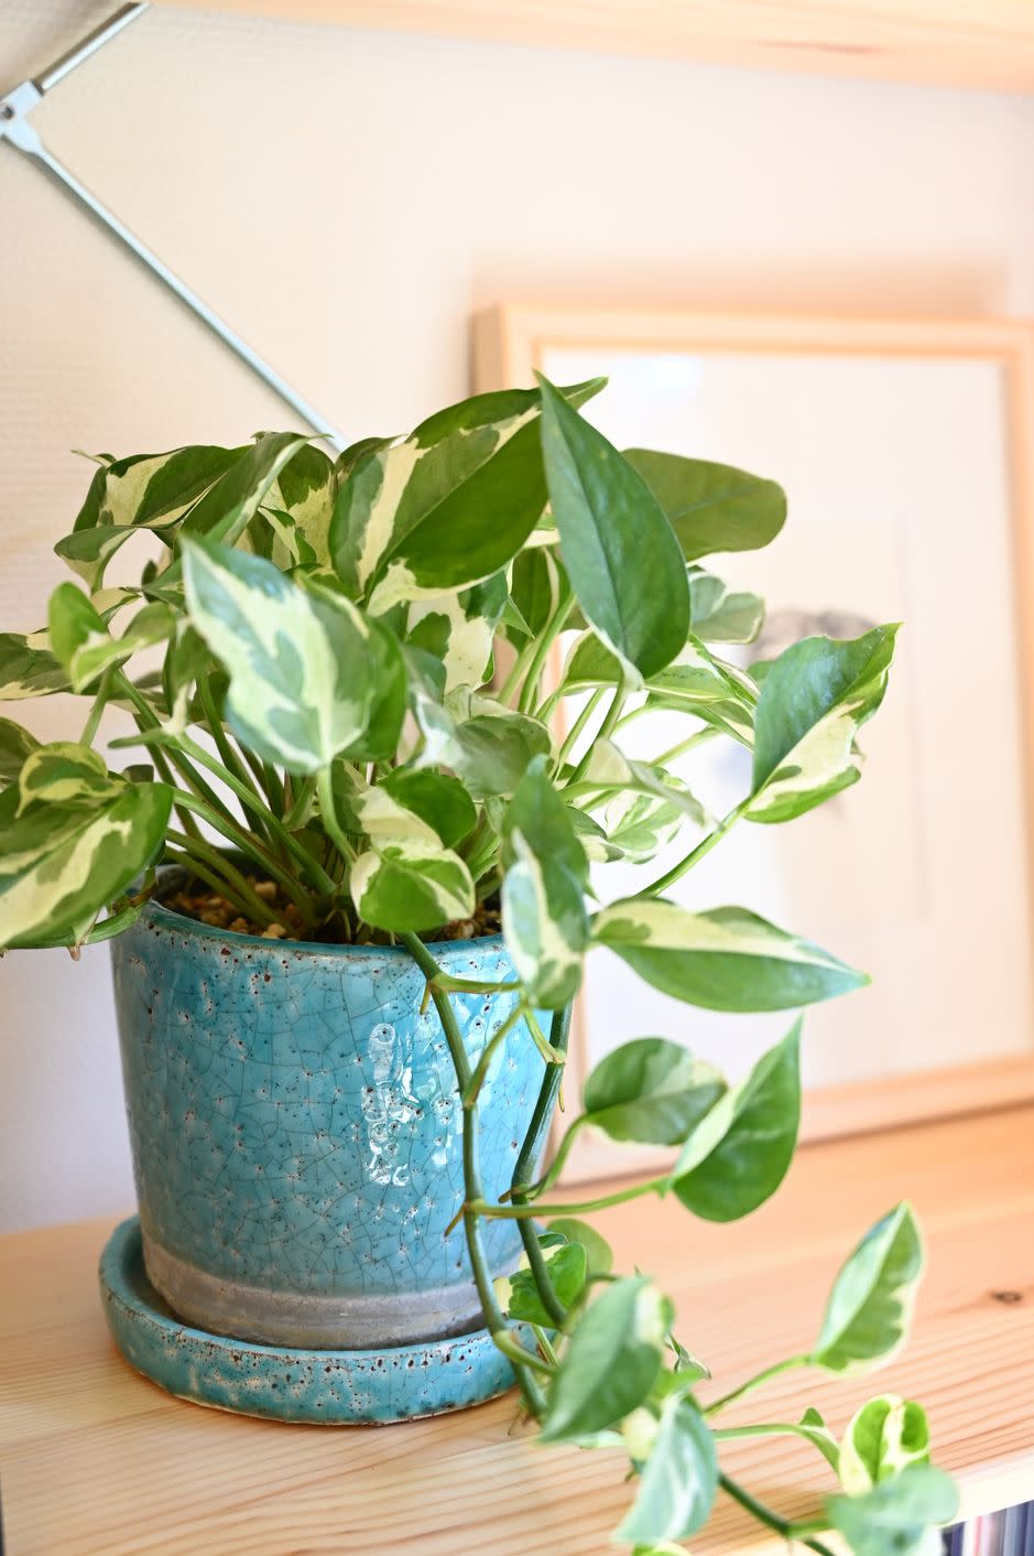
[[[858,778],[896,633],[734,664],[725,646],[754,638],[760,602],[701,559],[770,541],[782,492],[619,453],[578,409],[600,387],[479,395],[336,461],[291,433],[100,457],[56,548],[79,582],[45,632],[0,640],[3,697],[86,705],[68,742],[0,725],[0,946],[112,940],[143,1257],[193,1326],[179,1338],[229,1337],[236,1363],[249,1346],[322,1354],[327,1374],[362,1355],[353,1419],[516,1380],[543,1441],[624,1446],[617,1539],[639,1553],[678,1550],[721,1491],[813,1551],[832,1528],[858,1556],[927,1556],[955,1492],[916,1402],[865,1400],[841,1432],[815,1410],[723,1427],[785,1368],[894,1354],[924,1262],[908,1206],[847,1257],[807,1354],[726,1388],[586,1221],[636,1195],[714,1221],[762,1204],[796,1142],[799,1016],[739,1085],[628,1035],[540,1161],[588,952],[707,1010],[796,1013],[865,982],[743,907],[667,893],[734,825],[791,820]],[[145,534],[146,563],[114,585]],[[121,770],[96,750],[109,705],[132,719],[110,745],[141,756]],[[644,706],[686,720],[656,761],[622,750]],[[753,752],[717,822],[670,769],[709,739]],[[617,859],[644,881],[610,901],[589,867]],[[670,1147],[670,1169],[557,1200],[588,1128]],[[255,1408],[255,1377],[219,1386],[210,1402]],[[721,1467],[725,1439],[751,1433],[827,1461],[807,1520]]]

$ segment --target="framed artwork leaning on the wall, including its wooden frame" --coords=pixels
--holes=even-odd
[[[670,893],[693,909],[740,902],[872,974],[805,1015],[802,1137],[1034,1097],[1031,327],[533,307],[476,321],[477,387],[527,384],[533,369],[554,383],[606,373],[583,414],[619,448],[715,459],[787,489],[771,546],[707,562],[768,604],[759,641],[729,658],[903,622],[886,702],[863,730],[863,781],[791,825],[742,823]],[[683,716],[650,713],[620,744],[656,756],[684,733]],[[749,753],[726,744],[673,766],[718,815],[749,775]],[[656,873],[681,853],[661,853]],[[608,898],[634,888],[624,865],[602,868]],[[571,1091],[610,1049],[650,1035],[739,1077],[787,1025],[681,1005],[596,951]],[[656,1155],[589,1141],[571,1176]]]

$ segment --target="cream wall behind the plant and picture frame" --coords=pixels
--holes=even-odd
[[[0,84],[107,9],[6,0]],[[470,313],[505,297],[1034,313],[1015,96],[152,9],[37,124],[348,436],[460,397]],[[0,624],[31,629],[70,448],[291,415],[5,145],[0,310]],[[103,949],[0,965],[0,1184],[9,1226],[132,1200]]]

